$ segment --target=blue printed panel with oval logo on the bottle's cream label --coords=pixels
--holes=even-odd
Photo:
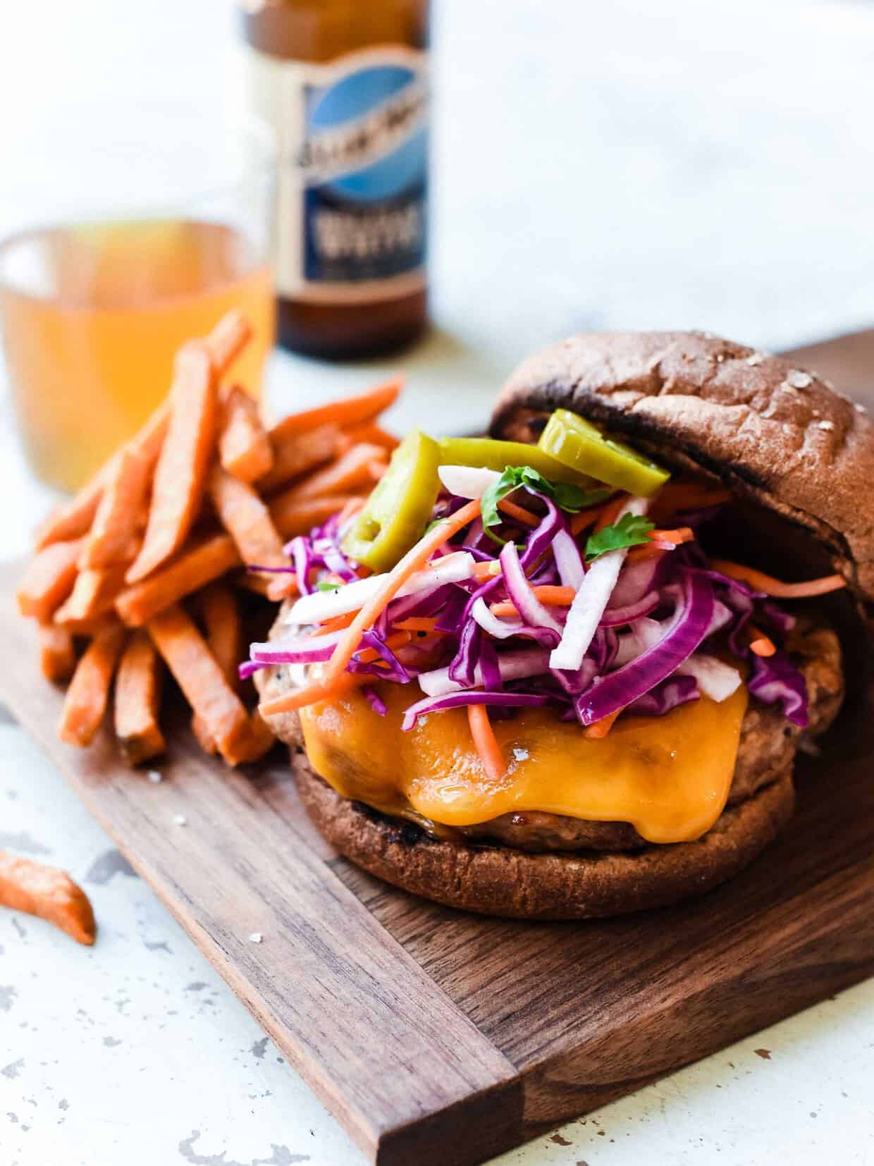
[[[396,283],[425,262],[427,76],[416,54],[410,63],[374,55],[303,87],[304,283]]]

